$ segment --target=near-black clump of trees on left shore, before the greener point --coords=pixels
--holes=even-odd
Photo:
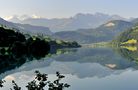
[[[0,47],[1,54],[32,54],[44,55],[50,51],[50,44],[43,39],[29,37],[19,31],[0,27]]]

